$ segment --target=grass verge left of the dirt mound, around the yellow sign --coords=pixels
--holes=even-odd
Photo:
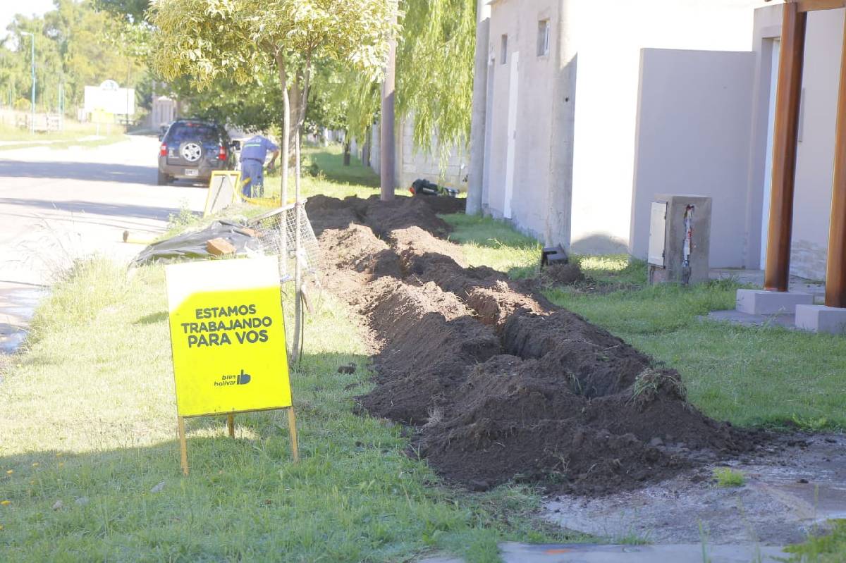
[[[368,359],[327,294],[292,374],[301,461],[284,413],[239,415],[236,440],[190,419],[183,478],[167,316],[161,267],[128,278],[102,260],[37,311],[0,384],[3,560],[494,561],[498,541],[566,539],[528,516],[532,490],[441,486],[401,427],[352,412]]]

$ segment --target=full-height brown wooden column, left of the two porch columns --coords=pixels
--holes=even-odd
[[[793,230],[799,98],[805,60],[808,14],[797,3],[784,4],[782,51],[778,63],[776,118],[772,138],[772,198],[766,246],[764,289],[786,292],[790,279],[790,235]]]

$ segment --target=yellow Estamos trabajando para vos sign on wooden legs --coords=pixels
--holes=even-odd
[[[183,472],[184,418],[288,409],[298,458],[276,257],[168,265],[173,377]]]

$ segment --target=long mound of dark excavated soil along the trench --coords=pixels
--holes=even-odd
[[[413,425],[415,451],[482,490],[509,479],[601,495],[751,451],[678,373],[442,240],[443,200],[316,197],[326,286],[379,342],[367,412]]]

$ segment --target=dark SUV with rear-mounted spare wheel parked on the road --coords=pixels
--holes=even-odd
[[[231,141],[226,129],[217,123],[197,119],[179,119],[159,135],[158,184],[174,178],[208,181],[215,170],[232,170],[232,150],[238,141]]]

